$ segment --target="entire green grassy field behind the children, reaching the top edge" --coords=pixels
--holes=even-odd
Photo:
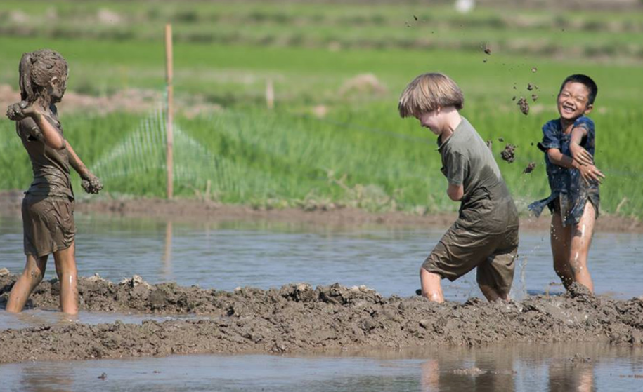
[[[561,80],[583,72],[599,86],[592,119],[597,124],[597,164],[607,175],[602,208],[613,213],[620,206],[623,215],[642,215],[643,198],[636,195],[643,188],[643,163],[637,159],[643,147],[637,136],[643,121],[643,74],[632,36],[643,29],[643,17],[637,13],[560,13],[552,18],[528,11],[510,18],[511,11],[461,15],[445,7],[418,10],[413,4],[337,9],[197,2],[179,8],[176,3],[117,2],[110,11],[120,15],[119,23],[92,26],[88,15],[104,8],[98,3],[72,7],[56,2],[55,18],[47,6],[38,7],[42,4],[0,4],[0,20],[16,20],[16,10],[32,15],[23,30],[15,22],[1,24],[0,84],[15,86],[21,53],[51,47],[70,62],[70,90],[91,95],[124,88],[162,91],[164,55],[158,35],[164,22],[174,22],[178,109],[197,96],[222,107],[196,118],[178,116],[175,187],[180,196],[266,208],[339,203],[419,213],[455,210],[457,204],[445,195],[434,137],[396,112],[405,84],[417,74],[438,70],[460,83],[466,97],[462,114],[483,138],[494,141],[502,173],[524,208],[547,196],[543,154],[532,143],[540,140],[540,126],[556,116],[554,98]],[[37,23],[47,15],[58,22],[48,27]],[[61,35],[63,27],[68,30]],[[98,34],[103,30],[109,34]],[[226,41],[190,34],[238,37]],[[297,34],[302,38],[283,39]],[[273,39],[266,41],[267,35]],[[427,36],[440,44],[399,41],[420,42]],[[386,44],[372,44],[377,40]],[[558,47],[537,50],[547,40]],[[485,42],[491,55],[481,50]],[[586,50],[586,45],[610,42],[633,44],[611,56]],[[569,56],[560,55],[572,47]],[[377,86],[358,83],[351,88],[351,79],[361,74],[375,76]],[[275,86],[272,111],[264,102],[268,79]],[[538,90],[526,90],[528,83]],[[524,116],[512,97],[534,92],[538,100],[530,100],[531,113]],[[315,114],[319,110],[323,115]],[[157,118],[62,113],[68,139],[115,196],[163,195],[164,130]],[[30,165],[13,124],[0,121],[0,133],[5,135],[0,140],[0,189],[25,189]],[[500,161],[504,143],[498,137],[519,146],[515,163]],[[539,164],[536,170],[523,174],[532,161]],[[78,184],[76,189],[81,192]]]

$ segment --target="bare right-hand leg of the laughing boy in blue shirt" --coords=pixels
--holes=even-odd
[[[571,236],[569,254],[569,266],[571,267],[574,281],[584,285],[591,292],[594,292],[594,283],[592,283],[590,270],[587,269],[587,255],[590,252],[595,222],[596,210],[592,203],[587,202],[583,216],[580,217],[580,222],[572,228],[573,236]]]

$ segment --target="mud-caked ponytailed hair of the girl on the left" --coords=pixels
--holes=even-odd
[[[34,102],[44,94],[52,80],[63,89],[67,88],[69,67],[60,53],[41,49],[24,53],[20,58],[20,98]]]

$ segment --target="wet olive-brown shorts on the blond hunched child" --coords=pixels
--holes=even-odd
[[[509,293],[518,254],[518,226],[500,234],[486,234],[460,227],[457,222],[442,236],[422,268],[449,281],[477,267],[479,285]]]

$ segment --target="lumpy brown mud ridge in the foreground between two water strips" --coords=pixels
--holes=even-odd
[[[5,302],[16,276],[0,276]],[[41,283],[32,306],[54,308],[58,283]],[[643,297],[597,298],[574,285],[567,295],[521,302],[434,304],[422,297],[382,297],[361,287],[305,283],[233,292],[79,279],[81,310],[195,313],[207,319],[42,325],[0,331],[0,363],[166,356],[177,353],[299,353],[497,342],[643,344]],[[0,304],[1,305],[1,304]]]

